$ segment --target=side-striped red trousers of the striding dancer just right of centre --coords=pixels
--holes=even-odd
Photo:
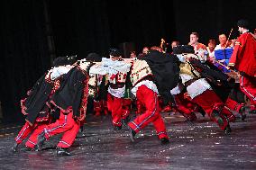
[[[159,139],[169,138],[164,121],[160,116],[158,94],[153,92],[146,85],[142,85],[138,88],[136,96],[146,107],[146,112],[137,116],[134,121],[130,121],[128,126],[137,133],[152,122]]]

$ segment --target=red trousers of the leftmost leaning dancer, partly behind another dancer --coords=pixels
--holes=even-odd
[[[46,127],[46,122],[36,122],[33,126],[31,126],[28,122],[26,122],[19,131],[18,136],[15,138],[17,144],[23,142],[23,139],[26,139],[30,134],[30,138],[25,143],[27,148],[34,148],[37,144],[37,137],[41,133],[41,131]]]

